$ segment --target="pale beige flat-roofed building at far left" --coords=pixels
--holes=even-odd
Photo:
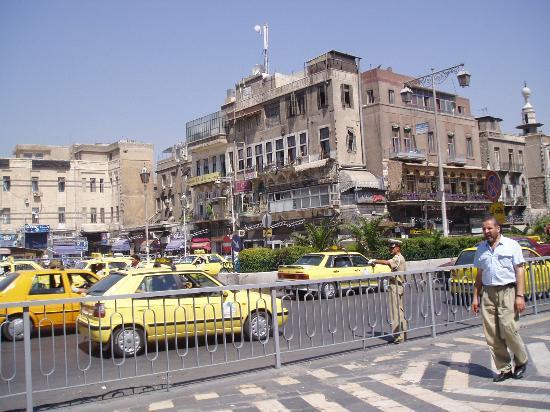
[[[17,145],[0,160],[1,232],[21,245],[74,251],[77,238],[90,250],[107,249],[111,234],[141,226],[144,188],[139,172],[152,169],[153,147],[133,141],[67,147]],[[153,211],[152,185],[149,210]],[[72,249],[71,249],[72,248]]]

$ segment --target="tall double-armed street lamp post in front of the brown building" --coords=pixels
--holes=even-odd
[[[447,207],[445,202],[445,180],[443,178],[443,162],[441,155],[441,144],[439,142],[438,134],[438,114],[437,114],[437,98],[435,92],[435,85],[443,83],[450,74],[454,73],[457,75],[458,84],[460,87],[467,87],[470,85],[470,73],[464,70],[464,64],[449,67],[444,70],[435,71],[431,69],[431,73],[418,77],[416,79],[410,80],[403,85],[401,90],[401,97],[405,103],[410,103],[412,101],[412,87],[430,87],[432,89],[432,98],[433,98],[433,112],[434,112],[434,139],[437,150],[437,168],[439,173],[439,192],[441,198],[441,224],[443,225],[443,236],[449,236],[449,225],[447,221]]]

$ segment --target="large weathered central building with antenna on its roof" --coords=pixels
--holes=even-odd
[[[195,223],[214,245],[232,215],[250,246],[264,243],[266,213],[276,243],[304,221],[383,211],[381,179],[365,169],[359,80],[358,59],[330,51],[298,74],[242,79],[219,112],[187,124]]]

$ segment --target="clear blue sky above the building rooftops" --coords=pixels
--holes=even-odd
[[[326,5],[325,5],[326,4]],[[219,109],[262,62],[272,71],[337,49],[362,67],[423,75],[466,63],[474,115],[521,122],[521,88],[550,131],[550,1],[0,1],[0,156],[17,143],[131,138],[160,150]]]

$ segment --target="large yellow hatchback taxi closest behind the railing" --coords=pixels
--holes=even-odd
[[[98,302],[82,304],[78,333],[116,356],[141,354],[146,342],[186,339],[195,334],[242,332],[247,339],[267,339],[273,316],[271,296],[253,291],[197,292],[187,295],[123,298],[100,301],[101,297],[145,292],[168,292],[209,288],[223,284],[205,272],[175,267],[113,272],[96,283],[88,296]],[[288,316],[277,299],[277,322]]]

